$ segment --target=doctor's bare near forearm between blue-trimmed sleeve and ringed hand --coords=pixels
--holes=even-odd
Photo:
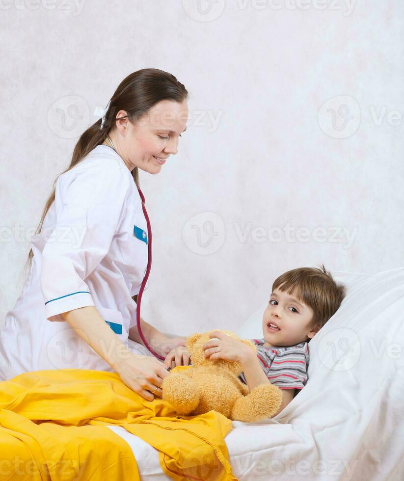
[[[115,371],[120,361],[133,355],[103,320],[96,307],[74,309],[63,313],[62,317]]]

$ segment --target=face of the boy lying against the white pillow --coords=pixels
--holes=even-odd
[[[318,329],[310,330],[313,309],[303,304],[293,294],[275,289],[270,296],[268,307],[264,311],[262,330],[264,346],[295,346],[312,338]],[[274,323],[280,330],[273,330],[269,323]]]

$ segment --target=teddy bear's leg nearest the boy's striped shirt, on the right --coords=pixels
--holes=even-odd
[[[282,403],[282,391],[273,384],[259,384],[233,405],[231,419],[250,423],[273,416]]]

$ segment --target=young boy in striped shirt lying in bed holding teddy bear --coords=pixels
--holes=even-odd
[[[272,383],[282,389],[281,412],[307,382],[308,343],[339,308],[345,286],[336,284],[322,268],[300,267],[285,272],[272,285],[272,294],[264,311],[263,338],[252,339],[257,353],[236,339],[215,331],[212,341],[202,346],[205,357],[239,361],[240,379],[253,389]],[[165,362],[171,366],[188,365],[186,347],[172,350]],[[175,360],[174,360],[175,358]],[[172,367],[172,366],[171,366]]]

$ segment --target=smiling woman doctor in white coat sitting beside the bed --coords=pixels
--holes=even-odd
[[[136,326],[148,260],[138,169],[158,174],[177,153],[187,97],[173,75],[139,70],[120,83],[105,117],[81,135],[32,238],[23,292],[6,314],[0,380],[96,369],[115,371],[147,400],[162,394],[167,366],[146,350]],[[165,360],[185,346],[186,337],[167,338],[140,321]]]

